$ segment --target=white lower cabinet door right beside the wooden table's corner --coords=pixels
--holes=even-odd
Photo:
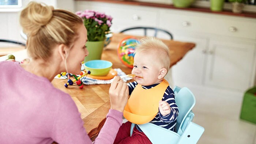
[[[172,67],[174,84],[177,86],[202,85],[208,40],[205,38],[180,37],[178,35],[175,35],[175,40],[193,42],[196,43],[196,47]]]

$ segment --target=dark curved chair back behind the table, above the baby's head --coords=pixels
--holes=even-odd
[[[120,33],[124,33],[124,32],[129,31],[129,30],[144,30],[144,36],[148,36],[147,30],[154,30],[154,37],[157,37],[157,34],[160,31],[160,32],[163,32],[163,33],[169,35],[171,40],[173,39],[173,35],[169,31],[159,29],[159,28],[156,28],[156,27],[131,27],[131,28],[124,29],[124,30],[120,31]]]

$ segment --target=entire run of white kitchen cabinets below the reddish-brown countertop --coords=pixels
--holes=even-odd
[[[179,9],[77,1],[76,9],[92,9],[113,17],[111,30],[151,26],[196,47],[172,67],[174,85],[200,89],[245,91],[255,84],[256,19]],[[142,35],[142,31],[127,34]],[[169,39],[158,34],[158,38]],[[168,77],[169,76],[169,77]]]

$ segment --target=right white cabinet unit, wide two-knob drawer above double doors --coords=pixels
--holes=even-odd
[[[178,86],[245,91],[255,82],[256,19],[162,10],[159,27],[196,47],[174,65]]]

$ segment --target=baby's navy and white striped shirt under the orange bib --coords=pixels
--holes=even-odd
[[[138,83],[136,81],[130,82],[127,84],[129,87],[129,95],[131,95],[132,91],[137,86],[137,84]],[[150,89],[157,85],[158,84],[153,84],[150,86],[142,86],[142,88]],[[172,88],[170,88],[170,86],[168,86],[165,90],[165,94],[163,94],[162,101],[166,101],[167,103],[169,103],[171,112],[170,112],[170,114],[167,114],[165,116],[163,116],[160,112],[158,112],[158,114],[155,116],[155,118],[152,121],[150,121],[151,123],[174,131],[174,126],[176,125],[176,120],[177,120],[177,116],[179,113],[178,106],[176,105],[174,98],[175,98],[174,92],[173,92]],[[142,130],[139,128],[138,125],[136,125],[136,128],[140,132],[142,132]]]

